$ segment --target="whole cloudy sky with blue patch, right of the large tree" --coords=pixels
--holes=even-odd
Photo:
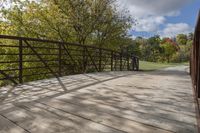
[[[118,0],[118,5],[137,20],[129,31],[132,38],[174,37],[194,31],[200,0]]]

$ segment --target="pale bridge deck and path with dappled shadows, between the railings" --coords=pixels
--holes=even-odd
[[[66,76],[0,89],[0,133],[195,133],[187,67]]]

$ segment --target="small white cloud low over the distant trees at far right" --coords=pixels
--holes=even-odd
[[[160,31],[162,37],[174,37],[177,34],[188,34],[193,31],[193,28],[186,23],[167,24],[166,27]]]

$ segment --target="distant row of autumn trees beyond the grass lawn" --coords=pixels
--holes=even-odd
[[[179,45],[177,39],[160,38],[154,36],[148,39],[137,37],[129,46],[131,51],[140,57],[140,60],[150,62],[186,62],[190,58],[190,48],[193,43],[190,33],[187,35],[177,35],[177,38],[184,36],[186,44]],[[132,48],[133,47],[133,48]]]

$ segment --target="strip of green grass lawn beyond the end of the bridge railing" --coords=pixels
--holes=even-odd
[[[184,63],[154,63],[147,61],[140,61],[140,70],[142,71],[153,71],[161,68],[167,68],[178,65],[189,65],[189,62]]]

